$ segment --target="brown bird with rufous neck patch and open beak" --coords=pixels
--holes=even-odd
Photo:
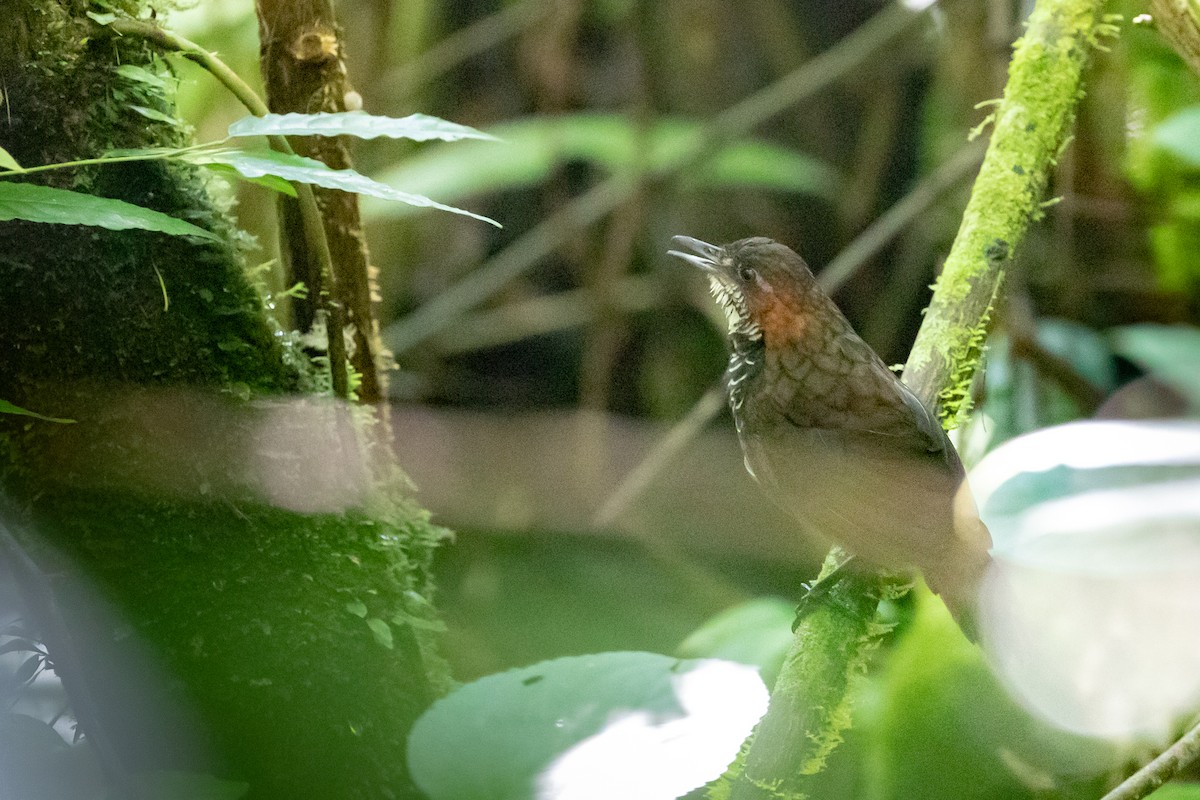
[[[728,324],[725,373],[745,467],[810,534],[872,567],[919,570],[972,613],[991,536],[936,415],[853,330],[794,251],[674,236]]]

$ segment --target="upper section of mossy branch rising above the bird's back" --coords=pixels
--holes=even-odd
[[[1114,32],[1103,0],[1039,0],[1015,44],[995,130],[904,379],[953,421],[967,398],[1004,270],[1040,204],[1082,96],[1088,56]]]

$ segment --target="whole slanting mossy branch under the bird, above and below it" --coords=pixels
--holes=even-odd
[[[925,402],[940,401],[944,419],[967,396],[1004,269],[1068,140],[1087,59],[1112,32],[1102,7],[1103,0],[1038,0],[1014,48],[991,143],[905,368],[906,383]],[[834,548],[824,571],[842,559]],[[883,576],[852,577],[800,620],[767,715],[712,798],[811,795],[811,776],[850,726],[853,679],[886,630],[876,609],[887,591]]]

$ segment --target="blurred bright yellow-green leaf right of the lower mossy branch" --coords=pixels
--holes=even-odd
[[[928,591],[910,601],[904,633],[872,668],[870,699],[854,705],[851,736],[870,742],[859,756],[871,762],[866,786],[838,796],[1033,800],[1044,795],[1032,787],[1060,781],[1072,786],[1064,795],[1087,796],[1076,787],[1110,770],[1120,750],[1024,711],[941,601]]]

